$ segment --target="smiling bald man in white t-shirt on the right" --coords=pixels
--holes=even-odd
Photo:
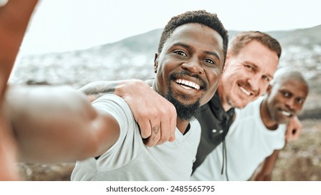
[[[191,180],[249,180],[258,166],[255,180],[271,180],[279,151],[285,146],[285,124],[302,110],[308,84],[302,74],[284,68],[276,72],[267,95],[235,109],[235,120],[225,137],[198,166]],[[226,166],[221,150],[227,150]]]

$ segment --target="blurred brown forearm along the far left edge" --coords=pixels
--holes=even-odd
[[[19,180],[16,142],[3,115],[6,85],[36,0],[10,0],[0,5],[0,180]]]

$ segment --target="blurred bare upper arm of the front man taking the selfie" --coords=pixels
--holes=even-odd
[[[68,87],[12,86],[3,104],[19,160],[62,162],[101,155],[116,142],[116,120]]]

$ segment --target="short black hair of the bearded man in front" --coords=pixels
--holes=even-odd
[[[162,52],[164,43],[166,40],[169,39],[173,31],[183,24],[189,24],[189,23],[198,23],[203,24],[205,26],[210,27],[211,29],[214,29],[214,31],[217,31],[221,38],[223,39],[224,44],[224,63],[226,59],[226,52],[228,49],[228,31],[224,28],[223,24],[221,23],[221,20],[217,17],[217,14],[214,13],[208,13],[205,10],[195,10],[195,11],[188,11],[186,13],[182,13],[180,15],[174,16],[169,20],[169,22],[166,24],[161,39],[159,41],[158,46],[158,53]],[[224,65],[223,63],[223,65]]]

